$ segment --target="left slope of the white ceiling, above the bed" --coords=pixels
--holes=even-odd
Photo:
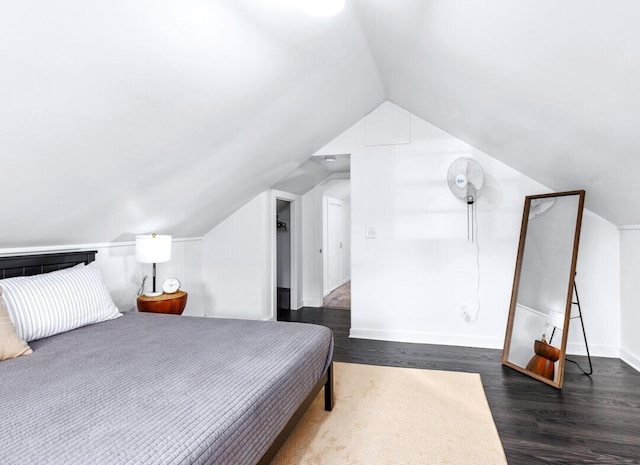
[[[0,247],[202,235],[384,99],[350,9],[0,2]]]

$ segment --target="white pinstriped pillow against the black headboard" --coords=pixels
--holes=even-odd
[[[0,280],[18,336],[27,341],[122,316],[95,262]]]

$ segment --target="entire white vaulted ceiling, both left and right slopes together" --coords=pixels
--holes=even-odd
[[[388,99],[640,224],[640,4],[0,3],[0,248],[206,233]]]

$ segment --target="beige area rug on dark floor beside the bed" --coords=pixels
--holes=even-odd
[[[323,391],[272,465],[494,465],[504,450],[480,375],[334,363]]]

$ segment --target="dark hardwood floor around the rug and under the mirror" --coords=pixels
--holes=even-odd
[[[480,373],[510,465],[640,464],[640,373],[621,360],[592,358],[591,377],[567,363],[557,390],[503,367],[499,350],[349,339],[348,310],[278,319],[330,327],[336,361]]]

